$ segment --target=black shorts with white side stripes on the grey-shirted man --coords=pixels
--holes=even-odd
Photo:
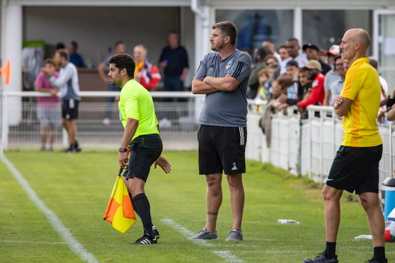
[[[201,125],[198,131],[199,174],[246,172],[247,128]]]

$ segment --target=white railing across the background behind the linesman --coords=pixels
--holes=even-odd
[[[88,148],[117,148],[123,135],[118,103],[107,103],[104,98],[118,97],[120,92],[80,92],[79,95],[82,98],[79,105],[79,118],[76,122],[79,143]],[[166,119],[160,127],[164,148],[197,149],[196,112],[200,112],[200,101],[203,96],[194,95],[191,92],[151,92],[151,95],[154,99],[158,121]],[[37,97],[49,96],[51,95],[41,92],[0,93],[2,103],[0,154],[9,148],[40,147]],[[162,102],[162,98],[184,98],[184,101]],[[15,99],[19,103],[13,103]],[[110,123],[103,122],[105,116],[110,116]],[[68,144],[66,131],[59,127],[56,132],[54,146],[66,147]]]

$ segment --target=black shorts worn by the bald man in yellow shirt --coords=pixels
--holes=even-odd
[[[326,184],[350,193],[378,193],[378,163],[382,153],[383,145],[340,146]]]

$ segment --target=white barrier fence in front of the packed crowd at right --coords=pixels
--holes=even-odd
[[[252,108],[255,101],[248,101]],[[271,147],[266,144],[259,120],[261,115],[248,111],[246,157],[270,162],[295,175],[307,175],[315,182],[325,182],[343,138],[342,120],[333,107],[308,106],[308,119],[301,119],[295,108],[278,112],[272,118]],[[320,117],[314,116],[320,113]],[[328,113],[330,114],[328,116]],[[391,125],[379,125],[383,141],[380,160],[380,187],[385,178],[393,176],[392,158],[395,132]]]

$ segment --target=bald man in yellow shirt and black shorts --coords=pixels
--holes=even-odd
[[[326,248],[304,263],[337,263],[336,239],[340,224],[343,190],[359,195],[373,237],[373,257],[367,262],[387,263],[384,250],[384,216],[378,197],[378,163],[382,140],[376,117],[380,107],[380,79],[369,64],[366,50],[371,40],[363,29],[350,29],[342,39],[342,58],[351,66],[342,93],[333,102],[337,115],[344,116],[344,136],[322,190],[325,203]]]

